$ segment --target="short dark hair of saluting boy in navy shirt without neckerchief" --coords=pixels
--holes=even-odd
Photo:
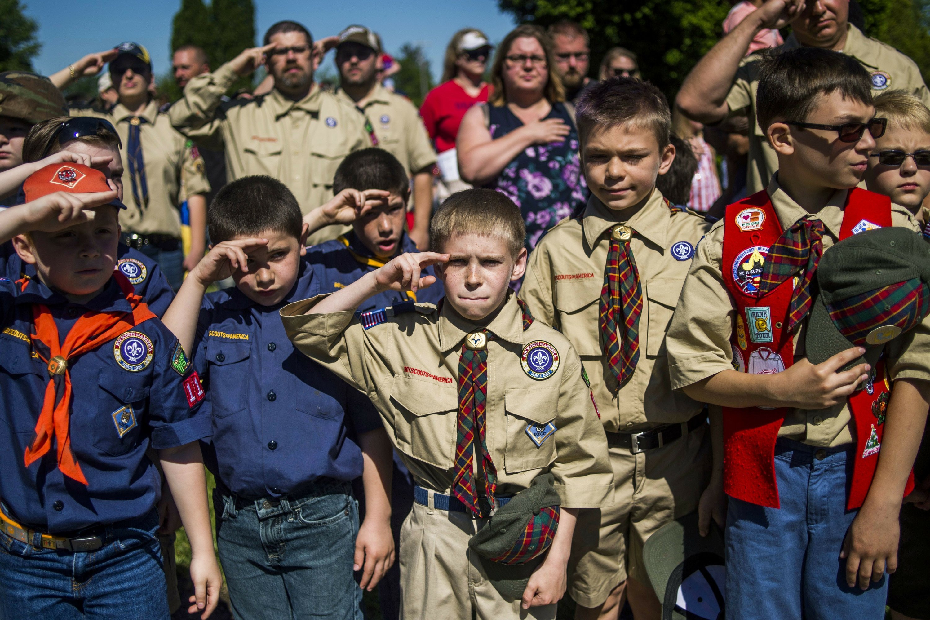
[[[297,239],[303,217],[294,194],[276,178],[243,177],[223,186],[206,209],[210,242],[275,231]]]

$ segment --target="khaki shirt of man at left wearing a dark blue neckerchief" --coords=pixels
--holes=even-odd
[[[142,159],[145,161],[145,180],[149,188],[149,205],[136,204],[132,194],[132,181],[129,178],[129,163],[126,152],[129,146],[129,122],[135,114],[129,112],[122,103],[117,103],[110,112],[97,112],[90,109],[72,110],[72,116],[98,116],[105,118],[116,127],[119,139],[123,141],[123,203],[126,209],[120,211],[119,223],[124,232],[139,234],[166,234],[180,238],[180,204],[187,196],[197,193],[209,193],[210,184],[206,180],[203,164],[197,165],[187,139],[171,126],[166,114],[158,112],[158,105],[150,100],[139,114],[144,122],[140,125],[140,142]],[[181,196],[181,182],[184,195]],[[141,191],[140,198],[141,198]]]

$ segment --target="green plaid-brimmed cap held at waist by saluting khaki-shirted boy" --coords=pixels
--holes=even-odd
[[[551,544],[557,521],[552,522],[543,508],[560,504],[554,483],[551,473],[537,476],[529,488],[498,508],[468,543],[481,557],[488,581],[504,597],[521,598],[530,575],[545,558],[542,552]]]

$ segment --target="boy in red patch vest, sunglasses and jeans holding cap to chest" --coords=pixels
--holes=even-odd
[[[873,291],[900,247],[870,270],[839,247],[918,227],[856,188],[885,127],[856,59],[804,47],[766,60],[757,112],[778,172],[698,244],[666,338],[672,388],[724,407],[726,614],[880,618],[930,394],[927,325],[892,338],[923,318],[928,294]],[[838,257],[861,297],[825,307],[817,268]],[[840,352],[822,355],[834,325],[856,330],[885,312],[887,324],[843,332]]]

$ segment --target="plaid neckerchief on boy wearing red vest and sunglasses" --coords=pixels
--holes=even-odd
[[[811,309],[811,280],[823,255],[823,222],[801,219],[781,233],[768,251],[759,281],[759,297],[774,291],[789,278],[799,282],[791,294],[788,331],[801,323]]]

